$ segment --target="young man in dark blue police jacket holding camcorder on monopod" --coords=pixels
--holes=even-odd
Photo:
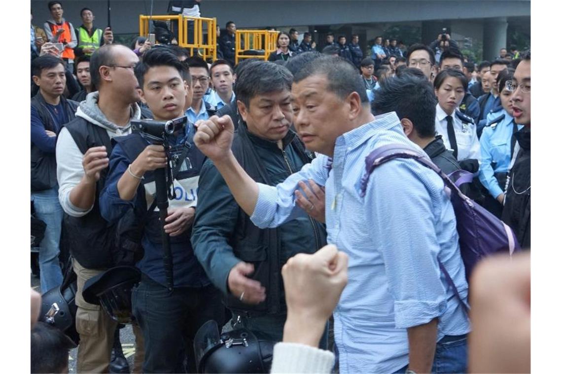
[[[205,156],[193,145],[192,123],[167,128],[171,120],[181,122],[186,100],[191,105],[191,76],[185,69],[167,48],[149,50],[135,67],[140,98],[155,121],[135,122],[131,135],[116,138],[100,197],[101,214],[111,223],[130,210],[141,222],[144,256],[137,267],[142,278],[133,289],[132,301],[146,347],[143,372],[149,373],[185,372],[186,354],[189,372],[196,372],[194,335],[207,320],[222,324],[224,319],[220,292],[205,275],[189,240]],[[174,191],[174,196],[168,194],[170,207],[164,222],[158,219],[158,211],[152,211],[155,193],[161,193],[157,173],[162,168],[170,176],[168,182],[173,179]],[[169,247],[162,230],[169,236]],[[163,261],[166,247],[171,249],[173,279]]]

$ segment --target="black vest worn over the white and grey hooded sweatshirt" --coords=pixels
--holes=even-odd
[[[112,145],[105,128],[76,117],[65,125],[82,154],[90,147],[105,146],[111,154]],[[96,183],[94,206],[88,214],[73,217],[65,213],[64,224],[68,233],[70,253],[87,269],[108,269],[113,266],[112,250],[115,243],[115,227],[102,218],[99,212],[99,194],[105,184],[107,168],[103,169]]]

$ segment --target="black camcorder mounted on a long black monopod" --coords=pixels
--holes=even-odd
[[[174,263],[170,247],[170,234],[165,232],[164,225],[168,216],[168,198],[175,198],[175,192],[173,188],[170,188],[174,183],[174,179],[170,168],[170,155],[168,153],[170,144],[168,137],[174,132],[182,130],[186,123],[187,117],[180,117],[173,121],[155,121],[153,119],[136,119],[131,121],[133,133],[138,133],[150,144],[164,146],[166,150],[166,167],[154,170],[154,181],[156,184],[156,206],[160,212],[164,275],[166,276],[166,287],[170,291],[174,288]]]

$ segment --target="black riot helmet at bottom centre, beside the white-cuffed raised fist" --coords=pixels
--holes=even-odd
[[[193,340],[197,372],[269,373],[274,344],[244,328],[221,335],[216,322],[207,321]]]

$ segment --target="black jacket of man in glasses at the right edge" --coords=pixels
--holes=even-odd
[[[531,247],[531,129],[515,133],[519,153],[509,172],[501,219],[515,232],[522,248]]]

